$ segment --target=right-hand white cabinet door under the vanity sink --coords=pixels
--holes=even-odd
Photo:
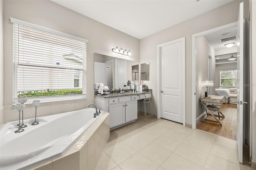
[[[138,119],[137,101],[126,102],[125,104],[125,122]]]

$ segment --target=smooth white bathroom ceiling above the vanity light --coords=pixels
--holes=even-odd
[[[138,39],[233,0],[52,0]]]

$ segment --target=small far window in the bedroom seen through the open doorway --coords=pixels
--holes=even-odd
[[[237,70],[220,71],[220,86],[237,86]]]

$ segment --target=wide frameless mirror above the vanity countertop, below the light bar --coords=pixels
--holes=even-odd
[[[132,80],[132,66],[137,61],[94,53],[94,83],[103,83],[109,89],[119,89]]]

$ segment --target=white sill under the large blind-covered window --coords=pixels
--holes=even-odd
[[[67,101],[76,99],[86,99],[86,95],[63,95],[63,96],[49,96],[49,97],[28,97],[25,104],[31,104],[34,100],[40,100],[41,103]],[[12,105],[18,104],[18,99],[13,99]]]

